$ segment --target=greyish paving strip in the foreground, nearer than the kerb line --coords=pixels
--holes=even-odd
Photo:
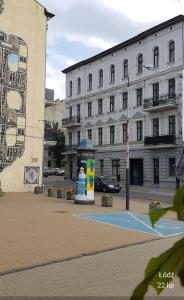
[[[159,255],[178,239],[151,241],[2,276],[0,296],[73,296],[73,299],[77,296],[84,299],[88,296],[127,296],[129,299],[132,290],[143,278],[148,259]],[[155,291],[150,288],[148,295],[154,296]],[[162,296],[165,300],[183,299],[184,289],[175,279],[174,288],[165,289]]]

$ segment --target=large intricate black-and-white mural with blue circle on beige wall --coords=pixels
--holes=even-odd
[[[27,56],[20,37],[0,31],[0,172],[24,153]]]

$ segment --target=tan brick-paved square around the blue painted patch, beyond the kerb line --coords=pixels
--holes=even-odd
[[[101,207],[101,195],[92,206],[31,193],[0,198],[0,273],[157,238],[74,216],[125,209],[120,195],[114,196],[113,208]],[[131,200],[131,209],[148,213],[148,203]]]

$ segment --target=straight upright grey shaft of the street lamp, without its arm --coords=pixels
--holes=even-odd
[[[127,102],[127,133],[126,133],[126,210],[130,209],[129,185],[130,185],[130,144],[129,144],[129,94],[130,84],[128,75],[128,102]]]

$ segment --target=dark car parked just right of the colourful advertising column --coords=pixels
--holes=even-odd
[[[119,193],[121,186],[114,180],[107,180],[105,178],[95,178],[95,191],[104,193]]]

